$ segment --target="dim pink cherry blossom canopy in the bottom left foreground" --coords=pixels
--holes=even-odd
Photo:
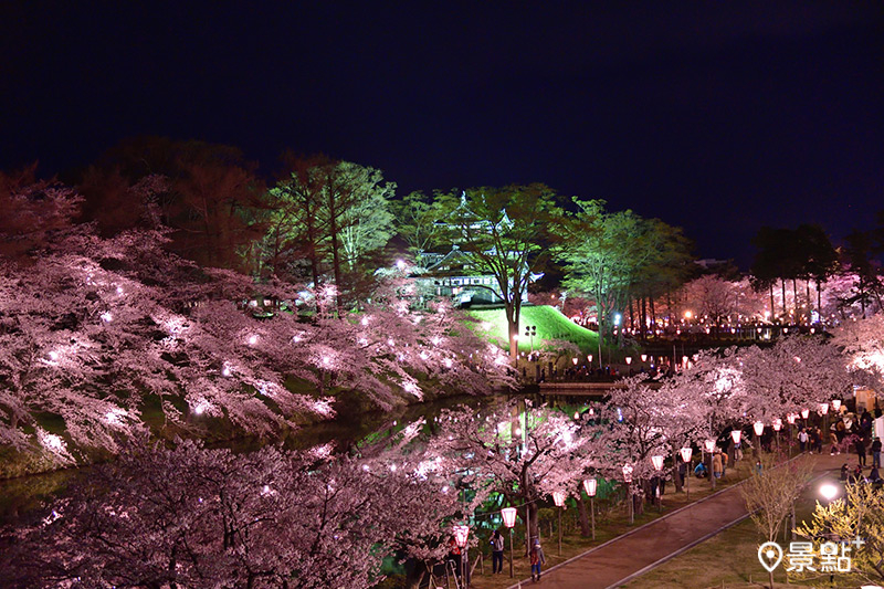
[[[0,572],[12,587],[358,589],[403,544],[444,546],[457,496],[420,463],[320,454],[128,448],[6,536]]]

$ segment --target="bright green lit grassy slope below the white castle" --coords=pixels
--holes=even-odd
[[[480,322],[483,322],[480,323],[480,335],[496,341],[503,347],[507,340],[504,309],[481,309],[470,311],[469,313]],[[577,344],[581,350],[590,353],[599,347],[599,336],[596,332],[580,327],[550,306],[522,307],[519,323],[518,349],[520,350],[530,350],[530,338],[525,337],[526,325],[537,326],[537,335],[534,338],[535,348],[539,347],[543,339],[567,339]],[[487,329],[482,327],[483,324],[487,326]]]

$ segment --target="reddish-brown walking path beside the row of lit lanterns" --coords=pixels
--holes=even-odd
[[[843,454],[814,456],[813,477],[838,471],[845,457]],[[619,587],[748,516],[739,485],[735,485],[556,565],[544,571],[540,582],[526,579],[509,589],[522,586],[538,589]]]

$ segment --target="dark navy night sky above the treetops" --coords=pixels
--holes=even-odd
[[[761,224],[884,209],[884,3],[610,4],[4,2],[0,168],[291,147],[400,192],[543,181],[743,265]]]

